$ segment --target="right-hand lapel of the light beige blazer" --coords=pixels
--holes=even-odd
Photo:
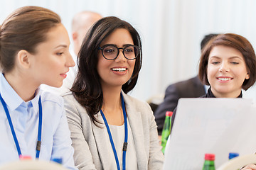
[[[137,155],[138,169],[147,169],[147,158],[144,149],[144,134],[142,127],[142,117],[141,113],[137,112],[130,101],[129,97],[123,93],[125,108],[127,111],[127,118],[129,120],[129,125],[132,129],[132,135],[134,138],[134,146]],[[129,137],[129,134],[128,134]],[[129,144],[128,147],[129,149]]]

